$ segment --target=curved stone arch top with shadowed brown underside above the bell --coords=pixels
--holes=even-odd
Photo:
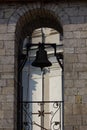
[[[9,18],[8,27],[14,26],[13,31],[16,33],[17,41],[19,41],[19,39],[23,40],[27,33],[32,33],[35,28],[43,25],[53,27],[63,35],[62,21],[60,21],[56,4],[47,4],[41,7],[40,3],[33,3],[18,7]],[[41,23],[43,24],[41,25]]]

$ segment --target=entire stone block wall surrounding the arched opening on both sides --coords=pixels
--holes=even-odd
[[[64,29],[65,130],[86,130],[87,3],[47,4],[43,8],[58,17]],[[25,14],[33,9],[40,9],[40,4],[0,5],[0,130],[16,130],[17,73],[15,72],[21,38],[18,34],[22,25],[27,23]]]

